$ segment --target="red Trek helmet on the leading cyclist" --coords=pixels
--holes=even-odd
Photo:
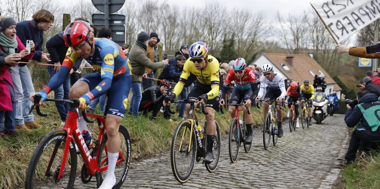
[[[78,20],[71,22],[63,33],[63,40],[68,47],[76,46],[91,37],[90,23]]]

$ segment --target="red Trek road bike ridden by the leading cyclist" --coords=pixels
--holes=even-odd
[[[41,96],[34,96],[34,104],[40,102]],[[106,117],[79,112],[78,98],[70,100],[46,99],[46,101],[58,102],[60,104],[70,105],[65,125],[62,130],[55,130],[47,134],[40,143],[38,143],[28,165],[25,188],[33,189],[33,184],[40,180],[49,180],[54,184],[66,185],[70,189],[74,186],[77,172],[77,150],[82,156],[84,164],[81,169],[82,183],[89,183],[92,176],[95,176],[97,187],[103,182],[102,173],[108,169],[107,157],[107,134],[106,134]],[[30,112],[32,112],[34,105]],[[36,106],[38,115],[46,117],[47,114],[40,112],[40,106]],[[98,139],[93,142],[92,149],[89,149],[78,128],[77,120],[82,113],[83,119],[87,123],[93,123],[87,117],[93,117],[97,120],[99,128]],[[116,162],[115,176],[116,184],[112,189],[118,189],[122,186],[127,177],[128,167],[131,158],[131,139],[127,128],[119,126],[120,151]],[[95,181],[94,181],[95,182]]]

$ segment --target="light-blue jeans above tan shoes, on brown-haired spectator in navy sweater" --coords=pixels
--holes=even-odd
[[[12,84],[14,88],[14,101],[16,103],[14,114],[15,124],[22,125],[25,122],[34,121],[33,113],[29,113],[33,102],[29,100],[29,95],[34,94],[32,77],[27,66],[14,66],[12,68]]]

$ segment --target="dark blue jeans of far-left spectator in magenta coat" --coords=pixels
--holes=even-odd
[[[16,103],[14,101],[14,93],[12,85],[8,83],[9,91],[11,93],[12,109],[13,111],[0,111],[0,131],[3,131],[3,118],[5,131],[16,131],[14,127],[14,110],[16,109]]]

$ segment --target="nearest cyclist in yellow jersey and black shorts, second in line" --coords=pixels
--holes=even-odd
[[[220,84],[223,81],[221,81],[219,74],[218,60],[211,55],[207,55],[207,50],[207,44],[201,41],[195,42],[190,46],[190,58],[185,62],[179,81],[176,84],[176,87],[174,87],[172,95],[169,97],[169,102],[173,102],[174,98],[181,93],[189,74],[194,74],[197,80],[188,94],[188,99],[197,99],[198,97],[201,97],[202,100],[198,101],[198,103],[201,103],[202,105],[206,104],[205,111],[209,112],[209,114],[206,115],[207,152],[203,161],[206,164],[210,164],[214,161],[214,156],[212,154],[212,147],[216,133],[214,115],[219,107],[220,95],[222,94],[222,91],[220,90],[222,87],[220,87]],[[170,105],[169,102],[168,106]],[[198,103],[195,103],[195,106],[197,106]],[[186,112],[188,116],[190,112],[190,104],[186,105]],[[198,118],[196,116],[194,118],[198,125]]]

